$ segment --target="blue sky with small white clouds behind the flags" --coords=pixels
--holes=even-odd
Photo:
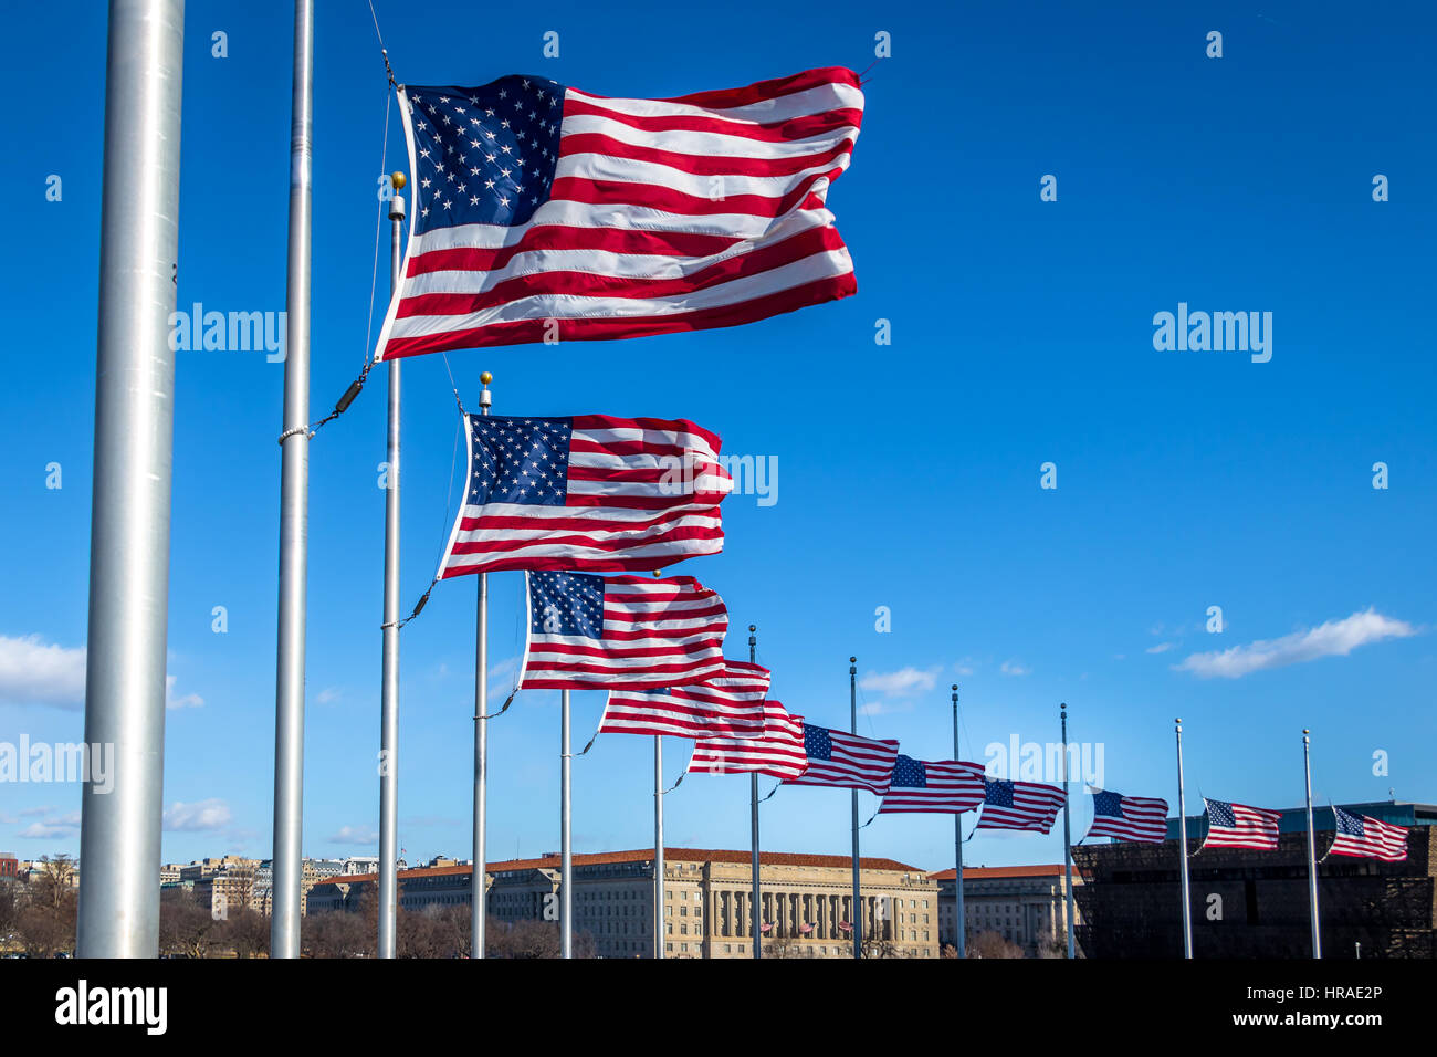
[[[855,298],[757,325],[583,347],[460,352],[473,406],[688,417],[724,450],[775,456],[777,502],[724,503],[723,555],[675,567],[718,590],[729,653],[749,623],[772,696],[859,732],[963,756],[1071,736],[1109,788],[1188,805],[1302,797],[1437,800],[1430,745],[1437,528],[1431,394],[1434,223],[1420,4],[999,4],[723,17],[556,3],[489,17],[378,0],[397,76],[481,83],[533,72],[602,95],[667,96],[809,66],[874,63],[864,132],[829,206]],[[752,7],[752,10],[750,10]],[[91,523],[105,26],[89,3],[10,13],[14,81],[43,106],[0,115],[11,144],[10,319],[0,390],[0,742],[79,741]],[[622,17],[629,12],[632,17]],[[227,33],[228,58],[211,56]],[[560,58],[542,56],[558,30]],[[1223,33],[1223,58],[1206,36]],[[285,306],[290,13],[191,3],[178,302]],[[368,7],[316,23],[313,391],[359,370],[387,295],[375,177],[407,168]],[[382,155],[382,161],[381,161]],[[47,201],[47,177],[62,200]],[[1058,201],[1039,180],[1058,178]],[[1372,178],[1391,200],[1372,201]],[[388,253],[388,233],[382,255]],[[1157,351],[1152,316],[1273,315],[1273,355]],[[875,345],[877,321],[892,344]],[[444,362],[405,362],[404,598],[448,525],[457,413]],[[269,856],[283,368],[182,352],[175,394],[165,860]],[[305,851],[372,853],[378,814],[384,377],[310,447]],[[1058,488],[1042,489],[1040,466]],[[1390,488],[1372,488],[1387,463]],[[59,463],[62,488],[46,488]],[[491,580],[493,693],[522,651],[520,574]],[[228,630],[211,630],[226,607]],[[1221,607],[1223,631],[1206,630]],[[888,607],[891,631],[875,630]],[[474,581],[441,584],[402,634],[401,843],[467,857]],[[1311,633],[1311,634],[1309,634]],[[1269,646],[1253,647],[1253,643]],[[1207,654],[1233,650],[1214,659]],[[1194,659],[1196,657],[1196,659]],[[1194,659],[1194,660],[1190,660]],[[582,745],[602,695],[573,700]],[[558,847],[556,695],[490,726],[490,859]],[[1374,752],[1388,775],[1374,775]],[[579,851],[652,840],[651,742],[608,736],[573,768]],[[665,742],[677,777],[687,746]],[[764,779],[764,790],[772,782]],[[864,815],[874,798],[861,794]],[[0,785],[0,847],[78,851],[78,785]],[[747,847],[747,781],[694,777],[665,801],[670,844]],[[1075,805],[1075,834],[1091,818]],[[764,847],[848,848],[848,797],[782,790]],[[885,817],[864,850],[951,864],[947,817]],[[984,834],[967,861],[1062,859],[1053,836]]]

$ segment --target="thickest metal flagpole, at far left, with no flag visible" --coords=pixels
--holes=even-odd
[[[80,797],[80,958],[160,951],[182,55],[182,0],[112,0],[85,742],[118,778]]]

